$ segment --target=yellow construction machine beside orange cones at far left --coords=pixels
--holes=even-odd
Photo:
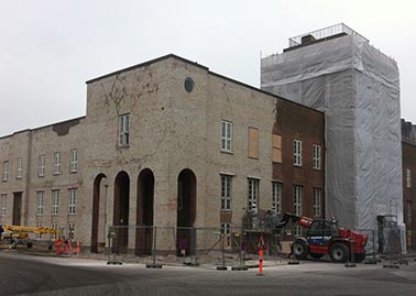
[[[15,248],[18,244],[33,246],[33,241],[29,238],[29,233],[35,234],[55,234],[59,239],[59,231],[46,227],[25,227],[25,226],[10,226],[3,224],[4,232],[2,233],[2,241],[9,242],[9,249]]]

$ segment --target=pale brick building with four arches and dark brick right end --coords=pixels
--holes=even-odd
[[[87,81],[85,117],[0,138],[1,222],[92,251],[108,226],[241,227],[324,216],[324,113],[175,55]],[[160,249],[175,250],[166,230]],[[187,235],[187,234],[186,234]],[[150,233],[127,231],[129,249]]]

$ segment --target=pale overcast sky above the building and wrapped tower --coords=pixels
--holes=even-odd
[[[174,53],[259,87],[260,53],[341,23],[397,63],[416,123],[412,0],[0,0],[0,136],[80,117],[85,81]]]

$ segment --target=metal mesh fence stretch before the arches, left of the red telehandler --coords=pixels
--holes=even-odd
[[[108,229],[106,252],[114,262],[136,255],[158,264],[242,266],[256,259],[260,249],[266,256],[282,257],[282,235],[241,228],[113,226]]]

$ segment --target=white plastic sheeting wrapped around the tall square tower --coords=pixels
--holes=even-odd
[[[403,224],[395,61],[344,35],[262,58],[261,87],[325,111],[328,217],[375,233],[377,215]]]

